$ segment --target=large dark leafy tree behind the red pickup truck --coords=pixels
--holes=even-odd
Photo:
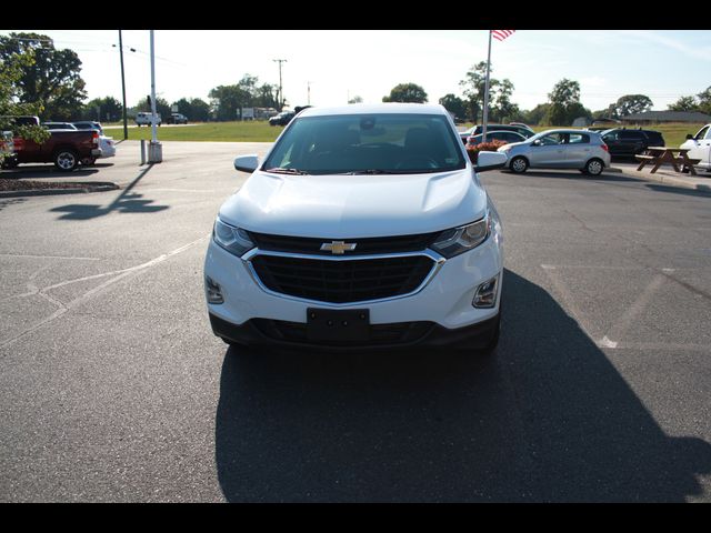
[[[32,51],[33,62],[21,68],[17,81],[19,102],[40,103],[43,118],[71,120],[79,115],[87,93],[77,52],[57,50],[52,39],[39,33],[0,37],[0,60],[28,51]]]

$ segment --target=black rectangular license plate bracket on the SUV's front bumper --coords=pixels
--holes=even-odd
[[[368,341],[370,310],[307,309],[307,338],[310,341]]]

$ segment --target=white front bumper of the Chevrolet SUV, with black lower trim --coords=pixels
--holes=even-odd
[[[307,309],[368,309],[375,339],[384,339],[381,330],[397,329],[398,324],[411,330],[394,344],[425,343],[435,345],[458,336],[477,338],[491,328],[499,314],[502,288],[503,245],[501,234],[493,232],[484,243],[445,260],[439,270],[417,292],[400,298],[371,302],[331,304],[277,294],[264,290],[253,278],[247,261],[239,259],[212,239],[206,255],[204,274],[220,285],[223,303],[208,303],[208,312],[216,335],[231,342],[278,343],[309,345],[298,339],[299,328],[306,326]],[[499,275],[498,296],[493,308],[472,305],[479,285]],[[273,326],[287,329],[297,335],[281,339]],[[299,325],[300,324],[300,325]],[[485,325],[489,324],[489,325]],[[470,326],[477,328],[471,329]],[[392,328],[391,328],[392,326]],[[417,333],[417,334],[415,334]],[[380,336],[379,336],[380,335]],[[390,333],[385,338],[391,339]],[[371,335],[372,336],[372,335]],[[387,340],[387,339],[385,339]],[[389,345],[387,342],[369,343]],[[322,344],[321,344],[322,345]]]

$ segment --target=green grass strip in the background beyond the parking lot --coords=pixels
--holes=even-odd
[[[462,124],[461,127],[471,128],[473,124]],[[687,133],[695,133],[703,124],[652,124],[643,125],[643,129],[657,130],[664,135],[667,145],[679,147],[685,141]],[[554,125],[534,125],[533,130],[540,131],[558,128]],[[628,125],[628,128],[637,128],[637,125]],[[123,138],[123,127],[121,124],[104,125],[108,135],[114,139]],[[266,121],[248,121],[248,122],[202,122],[187,128],[158,128],[158,139],[161,141],[214,141],[214,142],[273,142],[279,133],[283,130],[281,125],[269,125]],[[130,140],[150,140],[151,129],[129,128]]]

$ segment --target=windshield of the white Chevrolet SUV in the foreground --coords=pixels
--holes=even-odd
[[[463,169],[445,117],[342,114],[297,118],[262,170],[309,174],[424,173]]]

